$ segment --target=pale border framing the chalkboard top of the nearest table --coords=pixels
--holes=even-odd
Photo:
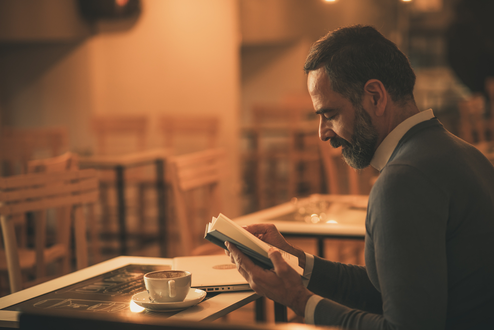
[[[38,286],[1,297],[0,309],[13,306],[54,290],[60,290],[127,265],[162,265],[171,268],[172,259],[128,256],[116,257]],[[259,296],[253,291],[219,293],[186,310],[179,312],[156,312],[159,315],[156,315],[155,317],[184,321],[213,321],[254,301],[258,297]],[[116,314],[117,313],[112,313],[112,315]],[[17,328],[19,315],[20,312],[0,310],[0,327]]]

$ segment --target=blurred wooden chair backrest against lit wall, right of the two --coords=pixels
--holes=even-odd
[[[219,118],[217,116],[164,116],[160,119],[160,129],[164,137],[164,146],[175,149],[175,154],[180,155],[197,147],[216,148]]]

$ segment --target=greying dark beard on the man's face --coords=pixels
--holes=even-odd
[[[329,140],[329,144],[333,148],[343,146],[341,154],[346,164],[355,169],[364,169],[371,165],[377,143],[377,131],[372,125],[371,116],[364,110],[364,107],[359,105],[355,110],[352,142],[333,137]]]

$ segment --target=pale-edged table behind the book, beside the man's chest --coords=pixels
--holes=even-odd
[[[368,202],[368,195],[313,194],[307,198],[240,216],[234,221],[240,225],[273,223],[284,236],[317,238],[318,255],[324,257],[326,238],[365,238]],[[295,219],[295,214],[302,207],[305,211],[311,211],[310,214],[301,214],[304,218],[309,216],[308,222],[305,219]],[[320,217],[321,213],[325,213],[325,217]],[[318,215],[317,218],[312,217],[313,214]]]

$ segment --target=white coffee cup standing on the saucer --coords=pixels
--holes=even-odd
[[[189,271],[160,270],[144,275],[144,285],[152,302],[177,302],[189,293],[191,279]]]

